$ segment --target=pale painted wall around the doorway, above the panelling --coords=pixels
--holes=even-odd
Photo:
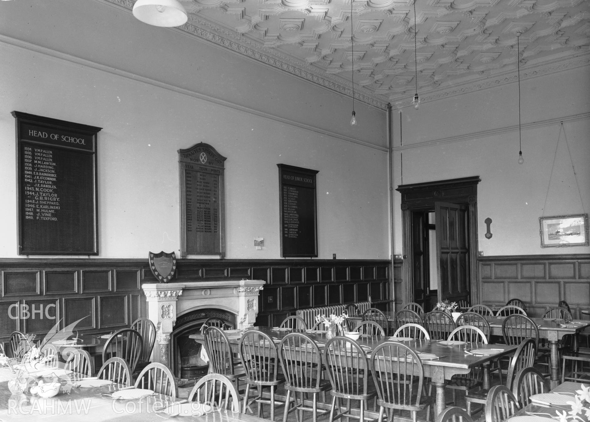
[[[539,217],[590,213],[590,67],[521,80],[521,97],[522,165],[516,84],[404,109],[401,138],[395,113],[395,186],[402,184],[402,154],[404,184],[480,176],[477,240],[484,255],[589,253],[588,246],[541,248]],[[565,135],[556,153],[561,119]],[[394,202],[401,233],[398,192]],[[484,237],[487,217],[491,239]],[[394,253],[402,253],[401,236]]]

